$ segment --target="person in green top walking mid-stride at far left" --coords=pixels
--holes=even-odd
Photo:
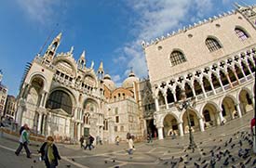
[[[28,144],[29,144],[29,127],[28,124],[24,124],[24,129],[20,134],[20,146],[19,148],[15,151],[15,154],[17,156],[20,155],[20,151],[21,149],[24,147],[24,149],[26,150],[26,154],[27,154],[27,158],[31,158],[31,152],[28,148]]]

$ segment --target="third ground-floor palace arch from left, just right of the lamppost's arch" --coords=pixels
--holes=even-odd
[[[203,112],[205,128],[216,126],[218,124],[218,113],[217,109],[210,103],[206,104]]]

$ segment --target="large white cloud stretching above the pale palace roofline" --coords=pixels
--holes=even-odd
[[[182,27],[182,22],[202,19],[213,8],[211,0],[130,0],[128,6],[136,15],[133,26],[134,41],[119,50],[122,57],[128,59],[128,75],[130,67],[139,77],[146,77],[147,66],[142,51],[141,41],[150,41]],[[137,17],[138,16],[138,17]]]

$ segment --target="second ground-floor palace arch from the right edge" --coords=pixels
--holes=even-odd
[[[235,102],[231,97],[224,97],[222,100],[222,117],[231,121],[237,115]]]

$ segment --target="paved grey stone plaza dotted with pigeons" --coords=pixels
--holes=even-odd
[[[188,135],[154,140],[153,143],[136,143],[130,157],[127,143],[98,145],[96,149],[84,150],[79,145],[57,144],[61,153],[58,167],[256,167],[256,155],[249,145],[249,122],[253,112],[245,114],[222,126],[209,128],[194,134],[197,149],[188,150]],[[0,137],[0,167],[45,167],[39,162],[38,142],[29,147],[33,156],[14,154],[18,147],[18,137],[5,134]]]

